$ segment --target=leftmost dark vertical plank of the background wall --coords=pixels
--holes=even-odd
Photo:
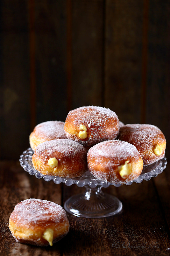
[[[3,1],[0,26],[1,158],[18,159],[22,149],[29,146],[30,133],[27,3]]]

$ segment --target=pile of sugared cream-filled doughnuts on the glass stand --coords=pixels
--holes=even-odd
[[[125,183],[165,156],[166,139],[158,127],[124,125],[109,108],[76,108],[59,122],[41,123],[30,134],[32,164],[45,175],[74,178],[88,168],[97,179]]]

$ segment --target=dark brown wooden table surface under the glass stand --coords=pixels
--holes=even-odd
[[[14,206],[27,198],[63,205],[84,191],[37,179],[19,161],[0,162],[0,255],[170,255],[170,168],[156,178],[131,186],[110,186],[104,192],[117,196],[123,211],[116,216],[86,219],[67,214],[70,230],[52,247],[16,243],[8,229]]]

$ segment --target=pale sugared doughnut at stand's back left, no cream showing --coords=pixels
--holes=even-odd
[[[66,139],[64,122],[47,121],[37,124],[29,136],[30,147],[33,151],[42,142],[47,140]]]

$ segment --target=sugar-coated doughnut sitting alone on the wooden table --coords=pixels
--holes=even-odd
[[[47,246],[67,235],[69,222],[59,204],[30,198],[15,206],[9,229],[17,242]]]

